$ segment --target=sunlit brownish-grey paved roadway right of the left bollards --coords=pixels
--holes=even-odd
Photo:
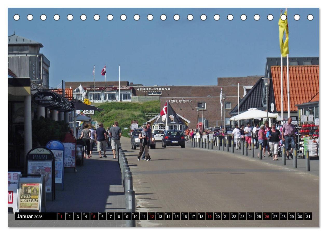
[[[157,143],[149,151],[150,161],[137,161],[139,149],[131,150],[129,139],[121,142],[133,165],[138,212],[312,212],[313,216],[313,220],[286,221],[140,220],[136,226],[319,226],[319,162],[312,163],[312,172],[305,172],[300,159],[299,168],[292,169],[291,160],[283,166],[281,160],[195,149],[189,143],[185,149]]]

